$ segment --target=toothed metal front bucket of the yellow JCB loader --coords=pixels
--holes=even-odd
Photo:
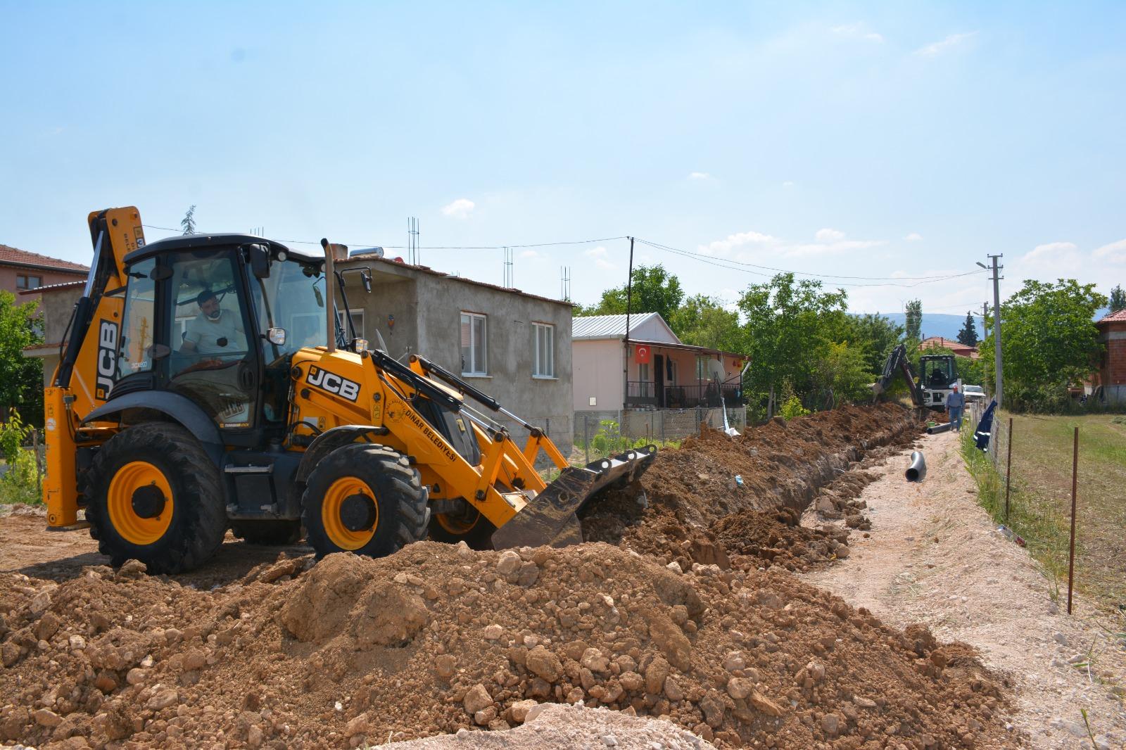
[[[591,462],[583,468],[568,466],[524,510],[493,532],[493,548],[579,544],[582,528],[578,514],[583,506],[611,484],[625,485],[640,477],[655,457],[656,446],[651,445]]]

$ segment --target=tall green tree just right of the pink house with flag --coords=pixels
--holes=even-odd
[[[831,325],[847,301],[843,289],[825,292],[821,282],[796,282],[793,274],[749,286],[739,307],[747,321],[744,351],[753,363],[748,373],[751,389],[774,395],[788,382],[799,394],[813,391],[817,366],[829,351]]]

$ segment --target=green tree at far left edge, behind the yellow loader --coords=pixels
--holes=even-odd
[[[24,421],[43,423],[43,364],[24,356],[24,347],[43,343],[37,302],[16,304],[16,295],[0,292],[0,408],[19,409]]]

